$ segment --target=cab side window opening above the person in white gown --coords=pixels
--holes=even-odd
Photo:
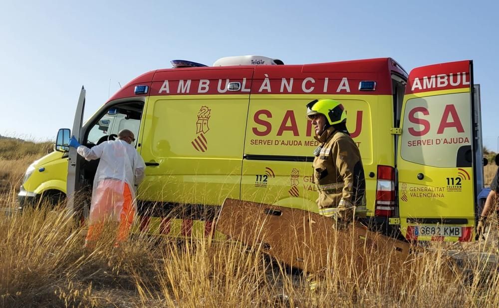
[[[110,108],[91,126],[87,143],[99,144],[110,135],[117,135],[122,129],[131,130],[137,137],[142,115],[141,103],[127,103]]]

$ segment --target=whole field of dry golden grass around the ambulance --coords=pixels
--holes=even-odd
[[[1,162],[2,185],[18,181],[34,158],[12,157]],[[0,195],[11,210],[17,184]],[[0,212],[0,307],[499,307],[498,264],[484,260],[496,252],[497,228],[488,241],[414,247],[404,266],[368,250],[367,271],[330,245],[316,292],[258,245],[135,234],[113,249],[108,228],[88,251],[85,228],[61,207]],[[456,254],[464,257],[450,258]]]

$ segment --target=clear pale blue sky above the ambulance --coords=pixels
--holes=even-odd
[[[484,143],[497,151],[498,11],[496,1],[4,1],[0,134],[52,140],[72,126],[82,84],[87,118],[118,82],[172,59],[390,56],[408,71],[473,59]]]

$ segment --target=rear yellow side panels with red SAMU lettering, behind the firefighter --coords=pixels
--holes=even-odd
[[[317,212],[312,180],[313,139],[305,105],[316,96],[305,94],[251,95],[246,131],[241,199]],[[374,215],[377,165],[394,166],[393,102],[389,95],[324,95],[347,111],[347,128],[359,146],[366,174],[368,216]],[[285,105],[285,107],[283,107]],[[386,121],[373,121],[387,117]],[[265,156],[269,156],[265,158]],[[271,156],[288,156],[289,161]],[[254,157],[254,159],[251,159]],[[307,162],[292,157],[308,157]]]

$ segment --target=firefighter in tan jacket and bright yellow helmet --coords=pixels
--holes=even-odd
[[[319,214],[347,225],[354,217],[365,217],[364,168],[360,151],[346,129],[343,105],[333,99],[313,100],[307,104],[315,139],[313,181],[319,197]]]

